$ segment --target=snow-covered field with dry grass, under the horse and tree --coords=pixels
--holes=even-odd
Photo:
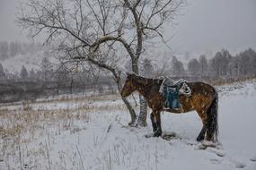
[[[207,149],[195,140],[195,112],[163,113],[163,132],[176,137],[146,138],[149,117],[146,128],[128,127],[119,96],[0,106],[0,169],[255,170],[256,81],[217,89],[222,145]]]

